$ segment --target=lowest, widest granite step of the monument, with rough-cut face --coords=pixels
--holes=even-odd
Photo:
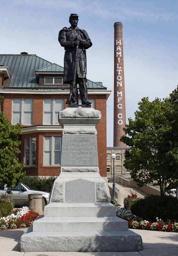
[[[141,236],[133,231],[32,232],[20,239],[21,252],[129,252],[143,250]]]

